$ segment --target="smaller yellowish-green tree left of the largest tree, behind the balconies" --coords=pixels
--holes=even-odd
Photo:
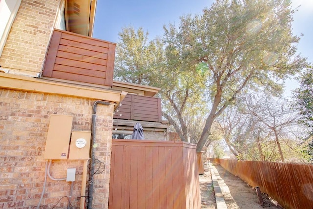
[[[148,43],[142,28],[123,28],[116,47],[114,79],[161,87],[162,116],[173,125],[182,141],[197,143],[204,120],[201,82],[174,59],[167,60],[163,42],[156,38]],[[173,61],[173,62],[172,62]]]

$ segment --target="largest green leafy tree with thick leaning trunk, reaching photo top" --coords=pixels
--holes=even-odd
[[[211,135],[214,120],[238,93],[268,89],[281,93],[276,81],[301,70],[305,59],[296,55],[299,38],[292,35],[289,0],[217,0],[202,15],[181,17],[179,27],[165,27],[167,54],[177,65],[192,70],[209,92],[210,102],[197,151]],[[174,62],[174,61],[172,61]],[[200,68],[199,66],[205,68]]]

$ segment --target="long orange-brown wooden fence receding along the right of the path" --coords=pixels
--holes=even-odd
[[[313,209],[313,165],[211,159],[286,209]],[[223,177],[222,177],[223,178]]]

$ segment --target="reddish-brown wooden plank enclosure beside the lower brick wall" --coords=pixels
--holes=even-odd
[[[201,209],[196,146],[112,139],[109,209]]]

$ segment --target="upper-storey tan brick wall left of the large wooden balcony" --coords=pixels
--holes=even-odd
[[[59,1],[22,0],[0,58],[2,68],[32,77],[40,73]]]

